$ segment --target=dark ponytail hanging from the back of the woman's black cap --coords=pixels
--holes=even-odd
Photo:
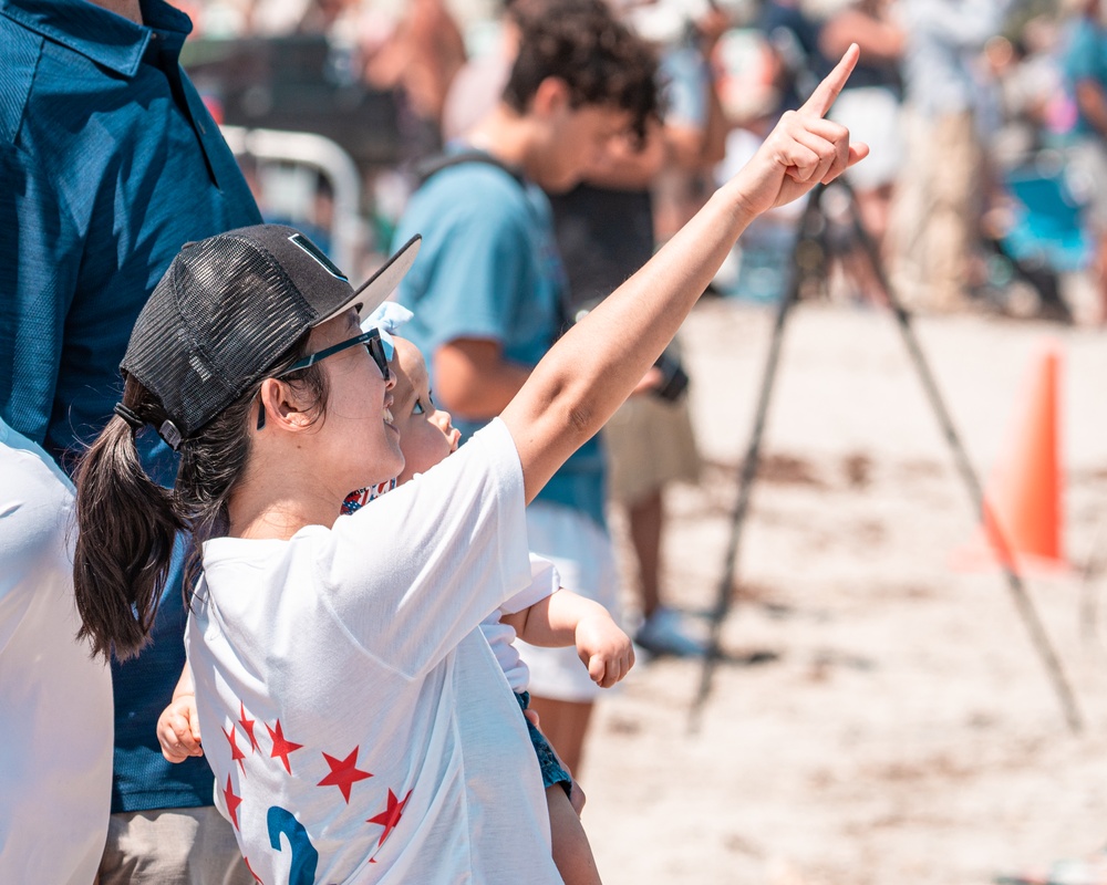
[[[123,405],[153,421],[161,407],[128,379]],[[163,413],[164,416],[164,413]],[[164,417],[163,417],[164,419]],[[173,544],[184,523],[173,493],[143,469],[137,429],[115,415],[77,465],[73,583],[93,655],[125,660],[146,644],[165,589]]]

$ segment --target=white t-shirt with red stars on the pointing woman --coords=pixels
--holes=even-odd
[[[204,750],[262,882],[561,881],[477,629],[531,583],[501,421],[330,529],[208,541],[204,574],[186,632]]]

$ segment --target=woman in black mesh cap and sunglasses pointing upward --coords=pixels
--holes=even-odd
[[[353,308],[383,301],[416,244],[356,292],[287,228],[174,261],[132,335],[118,419],[80,470],[74,576],[95,648],[126,655],[174,533],[201,544],[187,642],[205,753],[261,881],[559,881],[535,757],[477,624],[529,582],[526,503],[658,358],[737,236],[865,156],[823,118],[856,59],[499,419],[345,519],[350,489],[403,466],[394,382]],[[136,466],[147,426],[180,454],[173,492]]]

